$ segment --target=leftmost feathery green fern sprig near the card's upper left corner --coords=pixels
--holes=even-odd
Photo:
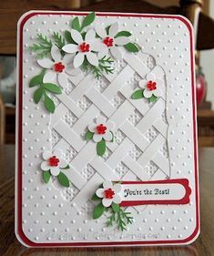
[[[30,50],[35,52],[38,58],[48,56],[51,52],[51,47],[53,46],[52,41],[42,34],[37,34],[36,41],[38,43],[30,46]]]

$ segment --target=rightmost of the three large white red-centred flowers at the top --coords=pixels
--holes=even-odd
[[[108,33],[107,30],[97,24],[96,26],[97,35],[102,38],[103,45],[105,46],[104,49],[98,53],[98,58],[102,58],[106,56],[108,51],[110,51],[111,55],[115,58],[122,58],[122,52],[118,48],[118,46],[125,46],[129,43],[129,38],[127,36],[115,36],[118,33],[118,23],[114,23],[109,27]]]

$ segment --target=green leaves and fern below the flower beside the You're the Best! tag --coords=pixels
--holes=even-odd
[[[99,201],[93,211],[93,219],[98,219],[105,211],[107,213],[109,212],[109,216],[107,216],[107,227],[116,224],[118,230],[124,231],[127,230],[128,224],[133,223],[131,212],[123,210],[118,204],[113,202],[109,207],[105,207],[101,202],[102,199],[98,198],[96,194],[93,195],[91,200]]]

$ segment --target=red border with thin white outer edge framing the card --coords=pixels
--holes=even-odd
[[[107,242],[62,242],[62,243],[36,243],[30,241],[22,229],[22,105],[23,105],[23,27],[25,22],[35,15],[87,15],[89,12],[79,13],[79,12],[52,12],[52,11],[32,11],[22,15],[18,22],[18,98],[17,98],[17,109],[16,117],[16,171],[17,171],[17,184],[16,184],[16,227],[15,234],[17,239],[23,242],[29,247],[89,247],[89,246],[121,246],[121,245],[161,245],[161,244],[188,244],[199,235],[199,179],[198,179],[198,142],[197,142],[197,123],[196,123],[196,92],[195,92],[195,71],[194,71],[194,49],[193,49],[193,29],[187,18],[181,15],[141,15],[141,14],[122,14],[122,13],[96,13],[98,16],[125,16],[125,17],[148,17],[148,18],[170,18],[178,19],[183,22],[189,29],[190,37],[190,59],[191,59],[191,88],[192,88],[192,104],[193,104],[193,137],[194,137],[194,160],[195,160],[195,183],[196,183],[196,228],[193,233],[184,240],[171,240],[171,241],[107,241]],[[18,72],[17,72],[18,73]],[[18,150],[18,151],[17,151]]]

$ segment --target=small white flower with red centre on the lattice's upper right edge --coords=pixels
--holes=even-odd
[[[160,78],[156,78],[152,72],[148,73],[146,76],[146,79],[142,79],[139,81],[139,87],[143,88],[143,95],[144,97],[152,97],[152,95],[156,97],[160,97],[162,92],[161,92],[161,87],[163,85],[163,80]]]

